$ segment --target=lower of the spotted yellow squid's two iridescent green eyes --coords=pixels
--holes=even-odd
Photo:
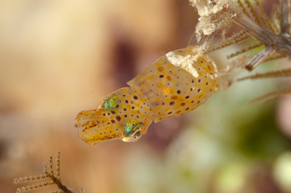
[[[134,142],[141,137],[142,122],[131,121],[124,126],[123,141]]]

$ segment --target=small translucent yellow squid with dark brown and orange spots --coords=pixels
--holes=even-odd
[[[219,90],[219,78],[214,61],[198,56],[197,50],[188,46],[171,52],[174,60],[168,54],[160,57],[127,83],[131,88],[104,97],[98,109],[81,111],[75,122],[82,128],[78,137],[88,144],[136,141],[152,121],[185,114],[206,102]],[[194,73],[185,70],[184,63]]]

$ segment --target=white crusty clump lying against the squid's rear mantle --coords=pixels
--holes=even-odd
[[[193,67],[193,63],[196,61],[196,57],[194,55],[188,54],[182,56],[174,53],[173,51],[170,51],[166,54],[166,57],[169,62],[172,63],[172,65],[188,71],[194,78],[199,77],[197,70]]]

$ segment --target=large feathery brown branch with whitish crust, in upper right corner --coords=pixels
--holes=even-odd
[[[240,54],[245,54],[233,59],[229,65],[220,71],[220,75],[229,76],[237,68],[243,67],[253,71],[261,63],[278,58],[291,58],[291,0],[279,0],[279,4],[273,9],[273,17],[270,19],[258,0],[189,0],[200,15],[196,26],[198,41],[204,40],[202,52],[211,52],[220,48],[253,39],[257,43],[240,49],[227,56],[227,59]],[[243,28],[242,31],[233,34],[229,38],[223,37],[217,43],[212,43],[214,35],[220,31],[229,29],[236,24]],[[225,33],[223,33],[225,34]],[[256,51],[254,51],[256,49]],[[253,52],[250,52],[253,51]],[[290,77],[290,69],[274,71],[265,74],[257,74],[238,79],[259,79],[269,77]],[[227,79],[227,86],[232,84]],[[283,94],[291,93],[291,89],[279,89],[253,100],[264,98],[275,99]]]

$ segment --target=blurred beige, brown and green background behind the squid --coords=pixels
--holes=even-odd
[[[288,79],[234,83],[188,114],[152,123],[134,143],[77,138],[79,111],[98,108],[163,53],[188,45],[198,20],[188,1],[1,4],[0,192],[37,183],[13,180],[42,174],[57,152],[62,181],[75,192],[291,192],[291,97],[248,103]],[[220,69],[233,49],[212,54]]]

